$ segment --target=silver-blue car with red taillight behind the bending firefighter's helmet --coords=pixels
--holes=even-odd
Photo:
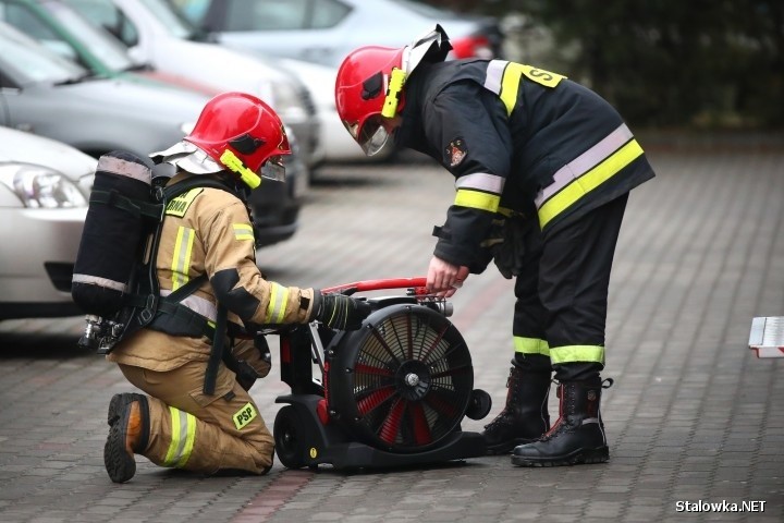
[[[493,17],[474,17],[412,0],[169,0],[221,44],[338,66],[365,45],[402,47],[440,23],[454,58],[498,54]]]

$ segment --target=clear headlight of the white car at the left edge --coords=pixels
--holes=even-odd
[[[0,166],[0,182],[7,185],[22,205],[33,208],[86,207],[78,186],[64,174],[30,163]]]

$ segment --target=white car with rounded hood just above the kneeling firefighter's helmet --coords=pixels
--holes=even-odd
[[[309,93],[269,61],[206,41],[166,0],[63,0],[109,31],[137,61],[220,90],[242,90],[268,101],[299,142],[308,167],[318,165],[319,122]]]

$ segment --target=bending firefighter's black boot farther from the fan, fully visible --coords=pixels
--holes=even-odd
[[[518,466],[558,466],[603,463],[610,459],[604,424],[599,412],[602,388],[612,380],[597,377],[585,381],[563,381],[559,386],[559,421],[539,441],[520,445],[512,453]]]

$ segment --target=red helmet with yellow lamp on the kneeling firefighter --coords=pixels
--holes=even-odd
[[[283,180],[283,155],[290,155],[278,114],[267,104],[246,93],[223,93],[201,110],[194,130],[184,141],[196,145],[212,160],[234,171],[252,188],[258,175]]]

